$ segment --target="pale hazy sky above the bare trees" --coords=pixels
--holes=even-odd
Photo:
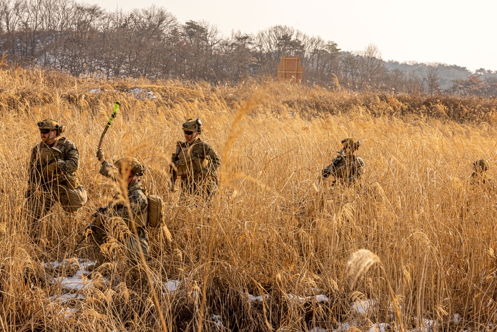
[[[225,35],[289,25],[344,51],[378,46],[383,60],[497,70],[497,0],[83,0],[124,10],[162,6],[179,22],[206,20]]]

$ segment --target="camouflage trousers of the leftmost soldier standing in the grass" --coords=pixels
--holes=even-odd
[[[88,195],[83,186],[70,189],[64,185],[39,186],[37,190],[29,193],[26,200],[26,213],[29,221],[36,221],[52,209],[59,202],[67,213],[77,213],[88,200]]]

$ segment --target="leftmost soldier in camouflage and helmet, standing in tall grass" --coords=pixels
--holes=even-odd
[[[87,201],[76,171],[80,154],[76,144],[61,137],[65,126],[47,118],[38,122],[41,142],[29,159],[26,211],[29,221],[39,220],[59,202],[68,213],[77,213]],[[30,226],[31,222],[30,222]]]

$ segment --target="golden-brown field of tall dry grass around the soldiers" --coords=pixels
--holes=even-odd
[[[136,156],[147,165],[144,181],[166,203],[168,230],[151,230],[146,265],[129,264],[113,237],[104,249],[109,262],[78,292],[85,298],[51,302],[66,291],[50,279],[76,270],[43,263],[71,258],[82,227],[113,191],[98,174],[95,150],[115,100],[120,114],[103,149],[108,159]],[[307,332],[333,331],[345,321],[358,331],[373,323],[414,331],[425,319],[438,331],[490,331],[497,324],[496,193],[468,178],[479,158],[489,160],[495,177],[496,108],[497,100],[476,98],[257,82],[108,82],[4,67],[1,331]],[[36,122],[46,117],[67,125],[65,136],[77,144],[89,202],[75,217],[56,206],[33,241],[22,206],[29,154],[39,142]],[[178,206],[179,190],[167,189],[171,153],[188,117],[202,119],[202,138],[222,158],[210,205]],[[339,141],[350,136],[363,141],[360,185],[316,186]],[[359,249],[377,258],[366,252],[347,271]],[[76,257],[95,259],[86,242]],[[381,262],[361,271],[368,259]],[[167,280],[183,282],[167,292]],[[264,294],[262,302],[249,301]],[[301,303],[289,294],[309,298]],[[329,302],[311,299],[320,294]],[[367,315],[350,310],[366,299],[378,302]],[[75,310],[68,315],[68,308]]]

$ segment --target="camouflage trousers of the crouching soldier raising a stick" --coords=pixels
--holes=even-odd
[[[100,256],[100,246],[105,243],[107,237],[107,231],[102,219],[96,219],[95,224],[90,226],[91,232],[88,235],[88,240],[93,244],[97,256]],[[150,253],[149,243],[147,242],[149,234],[142,227],[137,227],[137,231],[138,239],[132,230],[131,234],[126,234],[123,239],[126,257],[135,264],[140,261],[140,250],[143,252],[145,259],[148,258]]]

